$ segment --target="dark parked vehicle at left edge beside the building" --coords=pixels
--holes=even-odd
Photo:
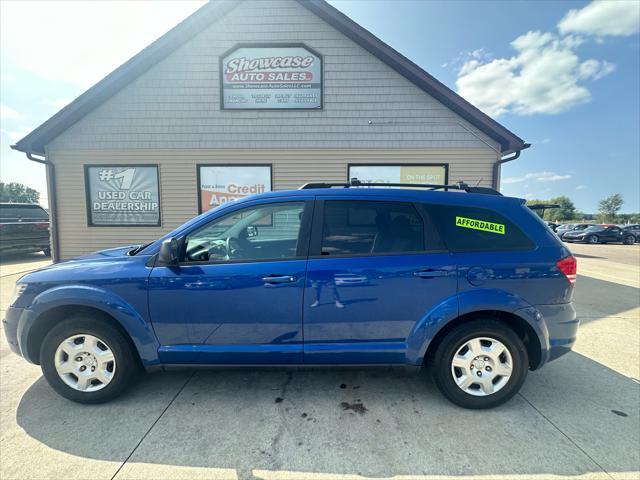
[[[51,255],[49,214],[40,205],[0,203],[0,255],[38,251]]]

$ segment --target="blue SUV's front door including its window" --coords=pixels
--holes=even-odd
[[[239,206],[179,239],[179,265],[149,279],[163,363],[301,363],[312,210],[301,197]]]

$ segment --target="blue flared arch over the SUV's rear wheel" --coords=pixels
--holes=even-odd
[[[549,349],[549,332],[538,310],[523,298],[498,289],[460,292],[436,305],[416,323],[407,339],[407,363],[420,365],[435,336],[456,318],[475,312],[497,311],[517,315],[533,329],[542,347],[542,359]]]

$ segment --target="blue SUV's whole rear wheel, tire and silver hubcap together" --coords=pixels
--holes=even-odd
[[[437,346],[432,372],[440,391],[464,408],[482,409],[511,399],[529,369],[518,335],[497,320],[473,320],[451,330]]]

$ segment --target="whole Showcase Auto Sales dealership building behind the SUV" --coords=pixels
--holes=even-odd
[[[13,146],[56,260],[307,182],[497,187],[527,147],[323,0],[206,4]]]

